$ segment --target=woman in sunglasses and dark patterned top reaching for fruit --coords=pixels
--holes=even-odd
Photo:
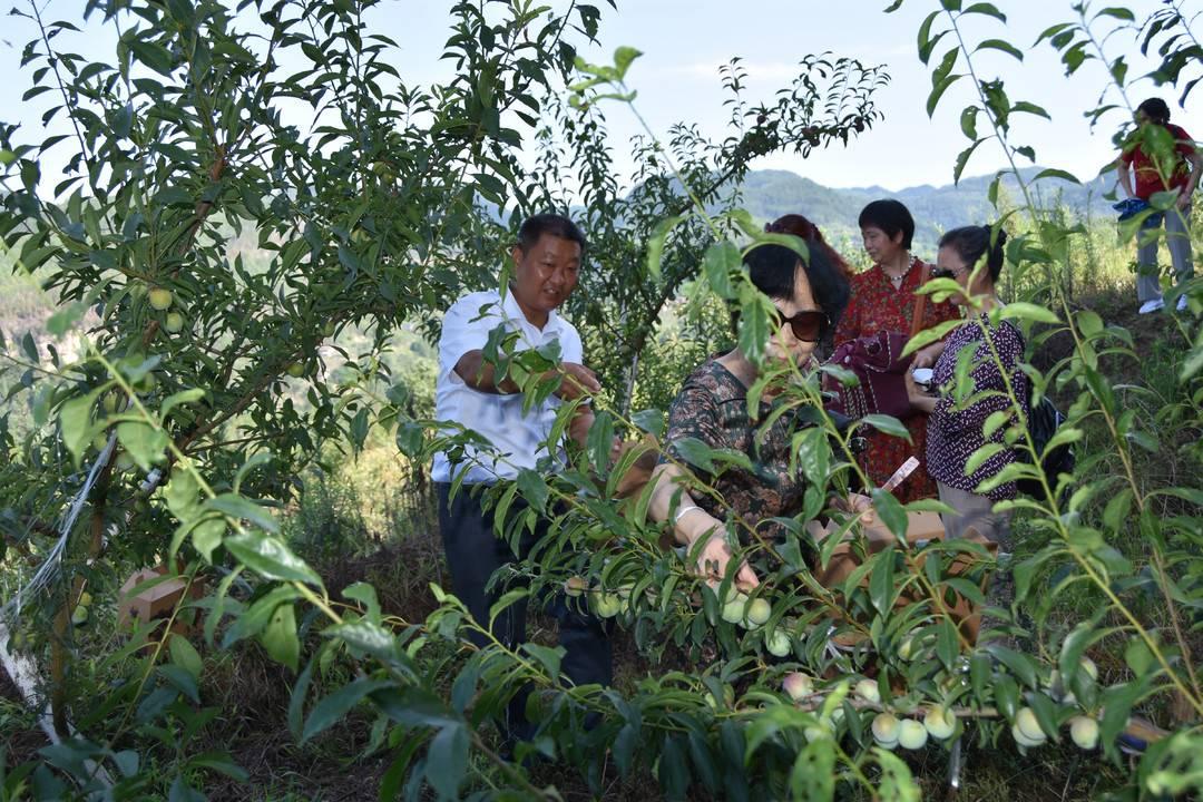
[[[816,344],[840,319],[848,299],[848,284],[830,263],[824,249],[811,239],[808,261],[783,245],[760,245],[745,263],[752,283],[772,301],[777,320],[765,349],[766,361],[802,366],[811,361]],[[669,410],[664,451],[674,462],[663,462],[652,474],[656,488],[650,513],[666,521],[672,512],[672,533],[677,542],[692,547],[705,537],[698,557],[703,576],[721,580],[731,559],[723,536],[723,519],[734,515],[742,523],[775,536],[780,527],[776,516],[795,515],[801,507],[805,480],[789,470],[793,426],[787,415],[763,427],[772,410],[772,391],[765,392],[755,420],[748,415],[747,391],[755,384],[759,370],[742,351],[707,360],[686,380]],[[727,448],[748,457],[751,470],[728,465],[719,470],[712,464],[699,465],[694,441],[710,448]],[[691,461],[694,457],[694,461]],[[713,494],[691,493],[687,471],[717,491]],[[695,487],[695,486],[694,486]],[[857,509],[863,501],[855,504]],[[745,563],[735,575],[740,587],[759,583]]]

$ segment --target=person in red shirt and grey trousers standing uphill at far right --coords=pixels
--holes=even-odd
[[[1124,147],[1116,164],[1120,186],[1127,197],[1138,197],[1142,201],[1148,201],[1157,192],[1178,192],[1178,201],[1166,210],[1165,215],[1166,245],[1169,248],[1174,275],[1178,283],[1183,284],[1195,274],[1187,221],[1191,219],[1191,195],[1198,185],[1199,170],[1203,170],[1203,156],[1186,131],[1171,125],[1169,106],[1160,97],[1150,97],[1137,106],[1136,121],[1139,125],[1137,136]],[[1130,170],[1136,173],[1134,190]],[[1148,315],[1166,305],[1161,297],[1157,237],[1154,232],[1142,230],[1137,234],[1136,261],[1139,311],[1142,315]],[[1185,295],[1178,297],[1178,311],[1184,309],[1186,309]]]

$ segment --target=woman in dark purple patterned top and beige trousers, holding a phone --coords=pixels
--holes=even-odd
[[[948,537],[962,537],[970,529],[1009,551],[1009,513],[994,512],[994,504],[1017,495],[1015,483],[991,480],[1015,461],[1005,434],[1011,426],[1024,426],[1027,410],[1027,378],[1019,369],[1024,356],[1024,337],[1009,321],[991,320],[1002,307],[995,290],[1002,271],[1002,246],[1007,234],[990,226],[954,228],[940,239],[936,278],[954,279],[962,291],[952,302],[966,309],[967,320],[947,339],[920,350],[912,370],[932,367],[930,386],[935,396],[924,392],[907,375],[907,394],[915,408],[929,414],[928,473],[936,480],[940,500],[956,510],[944,516]],[[980,263],[983,262],[984,265]],[[971,304],[970,298],[980,305]],[[995,315],[997,317],[997,315]],[[972,387],[956,392],[956,364],[962,352],[972,354]],[[995,358],[997,355],[997,360]],[[998,363],[1002,370],[998,369]],[[1006,376],[1006,379],[1005,379]],[[1015,416],[1007,384],[1019,399]],[[986,421],[995,412],[1009,416],[1002,424]],[[968,459],[982,446],[996,444],[994,453],[972,471]],[[985,483],[983,486],[983,483]]]

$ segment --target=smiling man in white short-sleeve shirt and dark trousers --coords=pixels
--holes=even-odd
[[[480,488],[475,486],[516,479],[521,469],[535,469],[540,459],[559,459],[558,447],[557,453],[549,453],[545,444],[562,400],[600,390],[597,376],[581,363],[580,334],[556,313],[576,286],[583,248],[585,236],[568,218],[557,214],[529,218],[510,251],[514,278],[505,296],[496,290],[468,293],[443,319],[435,416],[473,429],[493,445],[484,451],[467,448],[462,457],[456,455],[460,462],[455,464],[449,455],[438,453],[432,469],[452,589],[482,625],[488,623],[490,607],[500,595],[497,590],[486,593],[490,577],[500,566],[525,557],[546,531],[546,522],[533,535],[523,536],[520,553],[515,554],[506,541],[493,534],[492,511],[482,509]],[[520,387],[510,378],[496,381],[494,368],[485,358],[490,337],[498,327],[517,334],[518,351],[547,352],[558,345],[561,362],[555,373],[561,379],[559,387],[526,412]],[[592,422],[589,408],[579,408],[569,434],[583,444]],[[450,498],[451,482],[461,471],[467,471],[464,486]],[[567,650],[564,675],[577,684],[610,684],[610,641],[602,623],[569,611],[562,599],[556,600],[552,612],[559,619],[559,642]],[[506,644],[522,643],[526,604],[511,605],[502,612],[493,623],[493,634]],[[480,646],[486,642],[484,636],[475,640]],[[505,727],[511,738],[533,736],[525,707],[525,693],[510,703]]]

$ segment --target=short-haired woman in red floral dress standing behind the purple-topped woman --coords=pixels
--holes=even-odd
[[[930,273],[930,268],[911,254],[914,219],[902,203],[873,201],[861,210],[858,222],[873,266],[852,277],[852,299],[835,332],[837,345],[881,331],[908,334],[915,311],[915,290]],[[924,304],[924,328],[959,317],[956,308],[948,302],[935,303],[929,297]],[[870,481],[881,487],[903,462],[917,457],[919,469],[895,488],[894,494],[901,501],[935,498],[936,482],[928,475],[924,462],[928,416],[915,410],[902,423],[912,442],[873,429],[867,438],[869,447],[860,455],[861,465]]]

